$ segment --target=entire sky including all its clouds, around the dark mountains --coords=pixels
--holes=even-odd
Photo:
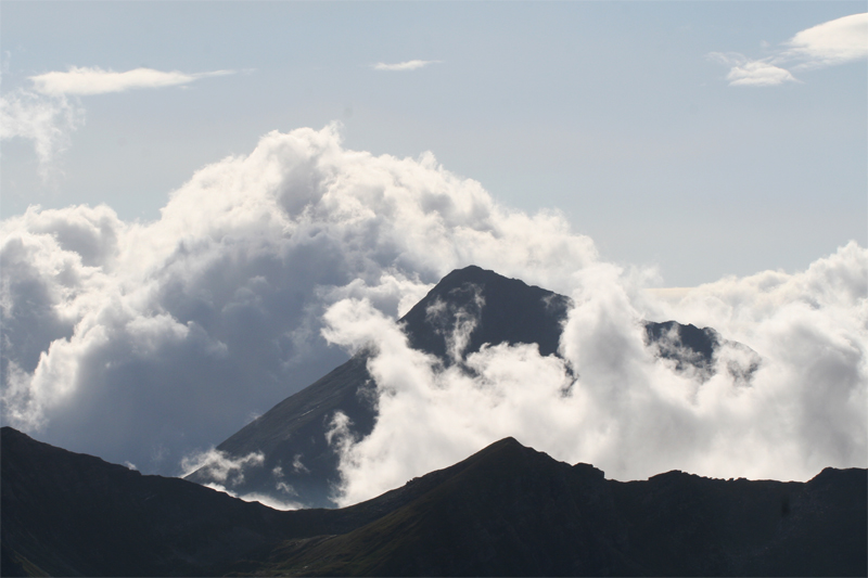
[[[175,474],[373,341],[378,386],[409,397],[334,436],[347,503],[511,431],[620,479],[865,466],[864,11],[3,2],[2,421]],[[510,375],[401,349],[395,319],[471,264],[573,297],[573,401],[523,412]],[[764,369],[673,377],[642,319],[713,326]],[[570,373],[487,355],[481,375],[548,391]],[[480,431],[461,399],[511,402]]]

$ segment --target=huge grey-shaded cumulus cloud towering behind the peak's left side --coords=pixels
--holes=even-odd
[[[329,305],[394,318],[471,264],[566,291],[598,258],[561,215],[503,207],[430,153],[345,150],[334,126],[203,168],[154,222],[31,207],[0,234],[4,422],[167,474],[346,360]]]

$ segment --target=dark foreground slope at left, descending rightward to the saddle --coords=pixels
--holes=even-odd
[[[283,535],[259,503],[1,435],[3,576],[207,574]]]

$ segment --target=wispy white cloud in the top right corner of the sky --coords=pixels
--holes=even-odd
[[[730,86],[773,87],[797,81],[788,67],[808,70],[835,66],[868,56],[868,13],[829,21],[797,33],[765,59],[737,52],[709,54],[730,66]]]

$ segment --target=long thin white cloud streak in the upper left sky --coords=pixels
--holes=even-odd
[[[74,94],[79,97],[125,92],[141,88],[163,88],[189,85],[200,78],[234,74],[234,70],[187,74],[178,70],[165,73],[153,68],[135,68],[125,73],[103,70],[99,66],[71,66],[65,73],[51,72],[31,76],[36,91],[59,97]]]

